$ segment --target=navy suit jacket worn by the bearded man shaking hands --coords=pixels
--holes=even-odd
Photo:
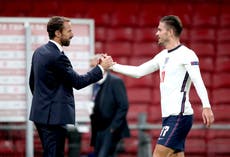
[[[30,120],[41,124],[75,124],[73,88],[81,89],[102,78],[97,66],[77,74],[66,55],[48,42],[33,54],[29,85],[33,94]]]

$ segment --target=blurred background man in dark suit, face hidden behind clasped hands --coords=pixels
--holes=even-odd
[[[90,60],[91,67],[98,63],[100,54]],[[96,157],[114,157],[116,147],[121,138],[129,137],[126,120],[128,98],[124,82],[121,78],[104,73],[103,79],[94,84],[97,93],[93,92],[94,107],[91,115],[91,145]]]

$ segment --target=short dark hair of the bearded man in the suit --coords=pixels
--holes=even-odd
[[[53,16],[47,23],[47,32],[49,34],[49,39],[55,37],[55,31],[59,30],[62,32],[64,28],[64,22],[69,22],[70,19],[62,16]]]

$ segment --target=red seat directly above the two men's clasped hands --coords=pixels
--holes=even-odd
[[[132,45],[129,42],[107,42],[105,51],[112,56],[130,56],[132,53]]]

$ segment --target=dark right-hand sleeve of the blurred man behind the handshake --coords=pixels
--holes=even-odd
[[[116,79],[115,81],[112,83],[112,91],[118,107],[111,124],[113,130],[120,128],[124,121],[126,121],[128,112],[128,97],[124,82],[121,79]]]

